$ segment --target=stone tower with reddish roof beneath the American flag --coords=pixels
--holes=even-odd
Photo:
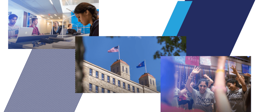
[[[116,73],[126,79],[130,80],[129,65],[122,59],[115,61],[111,65],[111,72]]]

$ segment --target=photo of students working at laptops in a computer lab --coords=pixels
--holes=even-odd
[[[99,36],[99,0],[8,0],[8,49],[75,49]]]

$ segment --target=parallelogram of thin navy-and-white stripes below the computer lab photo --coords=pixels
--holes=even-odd
[[[4,111],[72,112],[81,96],[75,93],[75,50],[32,50]]]

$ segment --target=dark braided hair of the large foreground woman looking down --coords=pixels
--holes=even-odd
[[[74,13],[79,14],[79,13],[85,12],[86,10],[88,10],[92,14],[93,22],[98,19],[98,15],[97,15],[98,11],[96,10],[95,6],[93,6],[92,4],[86,3],[86,2],[82,2],[82,3],[78,4],[75,8]]]

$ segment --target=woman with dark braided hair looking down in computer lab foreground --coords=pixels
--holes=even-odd
[[[91,24],[89,36],[99,36],[99,16],[95,6],[83,2],[76,6],[74,13],[84,26]]]

